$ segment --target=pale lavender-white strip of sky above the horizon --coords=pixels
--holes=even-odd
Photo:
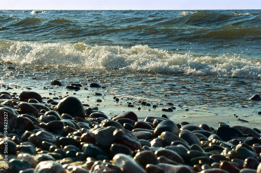
[[[238,10],[260,0],[0,0],[2,10]]]

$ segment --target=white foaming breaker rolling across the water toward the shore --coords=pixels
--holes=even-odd
[[[37,66],[64,66],[122,72],[185,73],[259,79],[260,60],[223,55],[194,56],[136,45],[89,46],[85,43],[0,42],[3,61]]]

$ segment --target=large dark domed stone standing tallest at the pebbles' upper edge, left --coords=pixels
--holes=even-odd
[[[78,98],[66,97],[63,98],[55,107],[59,114],[69,114],[72,117],[81,117],[85,119],[85,112],[82,103]]]

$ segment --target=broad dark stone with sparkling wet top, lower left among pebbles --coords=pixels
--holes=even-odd
[[[40,132],[37,132],[37,133],[31,135],[28,138],[28,141],[33,143],[36,146],[41,146],[43,141],[47,141],[47,142],[55,144],[56,138],[50,132],[40,131]]]

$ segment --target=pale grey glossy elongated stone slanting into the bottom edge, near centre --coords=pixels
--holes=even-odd
[[[113,157],[112,163],[118,166],[124,173],[146,173],[145,169],[128,155],[117,154]]]

